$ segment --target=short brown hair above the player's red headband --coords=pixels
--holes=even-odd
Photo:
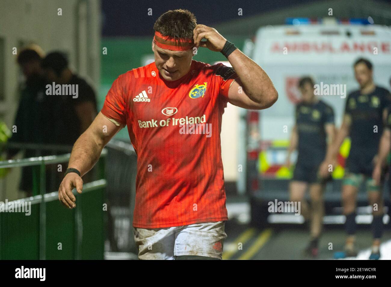
[[[153,29],[163,36],[193,39],[193,30],[196,25],[197,19],[192,12],[177,9],[161,14],[153,25]]]

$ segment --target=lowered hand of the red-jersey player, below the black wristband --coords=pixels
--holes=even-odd
[[[58,189],[58,200],[69,209],[76,207],[76,198],[72,189],[76,188],[78,193],[83,191],[83,180],[77,173],[68,173]]]

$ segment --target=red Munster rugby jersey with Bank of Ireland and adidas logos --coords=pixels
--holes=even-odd
[[[228,220],[220,132],[235,78],[233,68],[193,60],[176,81],[152,62],[113,82],[101,112],[127,125],[137,153],[133,226]]]

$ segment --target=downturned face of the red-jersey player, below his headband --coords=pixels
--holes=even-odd
[[[159,48],[152,44],[152,50],[155,54],[155,64],[161,77],[167,81],[175,81],[183,77],[190,70],[193,52],[171,51]]]

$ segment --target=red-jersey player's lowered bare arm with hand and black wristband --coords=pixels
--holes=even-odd
[[[81,176],[86,174],[97,162],[100,153],[110,139],[123,128],[124,125],[115,125],[101,112],[97,115],[90,127],[77,139],[72,148],[68,168],[80,172],[69,172],[65,175],[58,189],[58,199],[68,208],[76,207],[76,198],[72,189],[78,193],[83,189]]]

